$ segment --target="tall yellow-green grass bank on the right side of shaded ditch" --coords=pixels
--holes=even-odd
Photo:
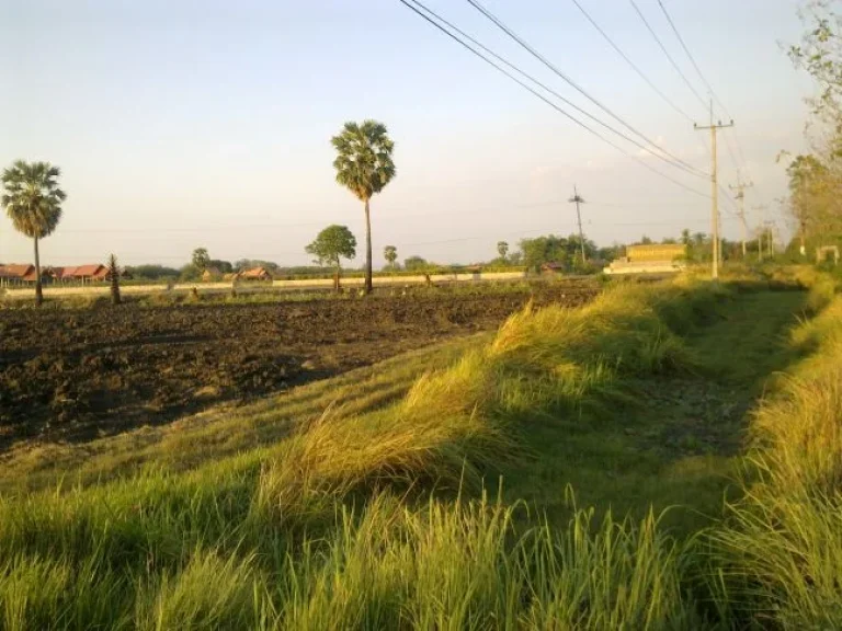
[[[842,627],[842,298],[794,335],[817,354],[752,424],[746,497],[710,534],[719,598],[759,626]]]

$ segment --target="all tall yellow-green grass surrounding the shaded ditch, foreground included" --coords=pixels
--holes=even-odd
[[[339,402],[276,446],[193,471],[0,497],[0,626],[839,626],[837,303],[794,337],[817,358],[759,413],[759,473],[706,547],[651,514],[573,507],[550,524],[483,492],[501,463],[528,462],[520,433],[535,418],[578,418],[632,378],[694,370],[682,336],[729,292],[679,280],[527,308],[382,409]],[[699,551],[715,607],[691,592]]]

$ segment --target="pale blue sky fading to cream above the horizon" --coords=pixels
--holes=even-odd
[[[702,100],[629,1],[579,0],[658,90],[707,125],[702,78],[657,0],[636,1]],[[728,191],[739,165],[754,183],[749,229],[771,219],[785,236],[775,157],[805,150],[812,93],[783,50],[803,30],[797,0],[662,1],[725,106],[715,116],[735,121],[718,138],[720,183]],[[483,5],[616,118],[467,1],[424,3],[591,115],[709,173],[709,133],[637,76],[572,0]],[[400,260],[468,263],[493,257],[500,240],[569,234],[573,186],[585,236],[602,245],[710,227],[708,176],[547,96],[618,151],[398,0],[0,0],[0,167],[45,160],[62,171],[68,198],[42,242],[46,264],[114,252],[126,265],[179,266],[204,246],[213,259],[303,265],[330,223],[356,234],[361,264],[363,207],[334,181],[330,138],[364,118],[385,123],[396,146],[397,175],[372,200],[375,265],[386,244]],[[725,236],[739,239],[737,207],[720,197]],[[32,243],[0,217],[0,261],[31,259]]]

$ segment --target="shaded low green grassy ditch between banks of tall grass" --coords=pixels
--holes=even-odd
[[[786,332],[805,292],[749,292],[721,305],[686,337],[692,371],[632,378],[630,400],[582,410],[564,423],[534,420],[526,434],[537,459],[509,471],[509,496],[561,519],[560,490],[580,505],[645,516],[672,507],[664,523],[690,532],[721,514],[747,412],[774,371],[794,359]]]

